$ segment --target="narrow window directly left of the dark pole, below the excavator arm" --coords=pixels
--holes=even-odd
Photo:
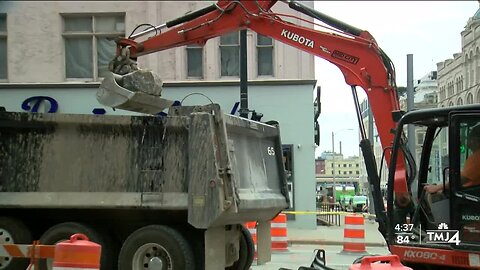
[[[220,75],[240,75],[240,32],[220,37]]]

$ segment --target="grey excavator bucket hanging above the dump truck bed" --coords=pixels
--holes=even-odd
[[[173,105],[174,101],[159,95],[124,88],[120,82],[125,76],[109,72],[97,90],[98,102],[108,107],[146,114],[157,114]]]

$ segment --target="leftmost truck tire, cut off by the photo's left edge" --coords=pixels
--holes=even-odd
[[[33,238],[25,224],[11,217],[0,217],[0,244],[32,244]],[[26,269],[28,258],[0,257],[1,270]]]

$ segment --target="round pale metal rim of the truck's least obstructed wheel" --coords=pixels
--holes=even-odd
[[[170,253],[161,245],[148,243],[137,249],[132,259],[133,270],[173,269]]]

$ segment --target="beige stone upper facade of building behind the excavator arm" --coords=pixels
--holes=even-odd
[[[129,36],[140,24],[159,25],[212,3],[2,1],[0,82],[99,81],[114,56],[112,38]],[[305,4],[313,7],[313,2]],[[313,21],[280,2],[273,10]],[[250,80],[314,79],[312,55],[251,31],[247,44]],[[165,81],[238,80],[239,46],[236,32],[209,40],[204,47],[182,46],[140,57],[139,65],[157,71]]]

